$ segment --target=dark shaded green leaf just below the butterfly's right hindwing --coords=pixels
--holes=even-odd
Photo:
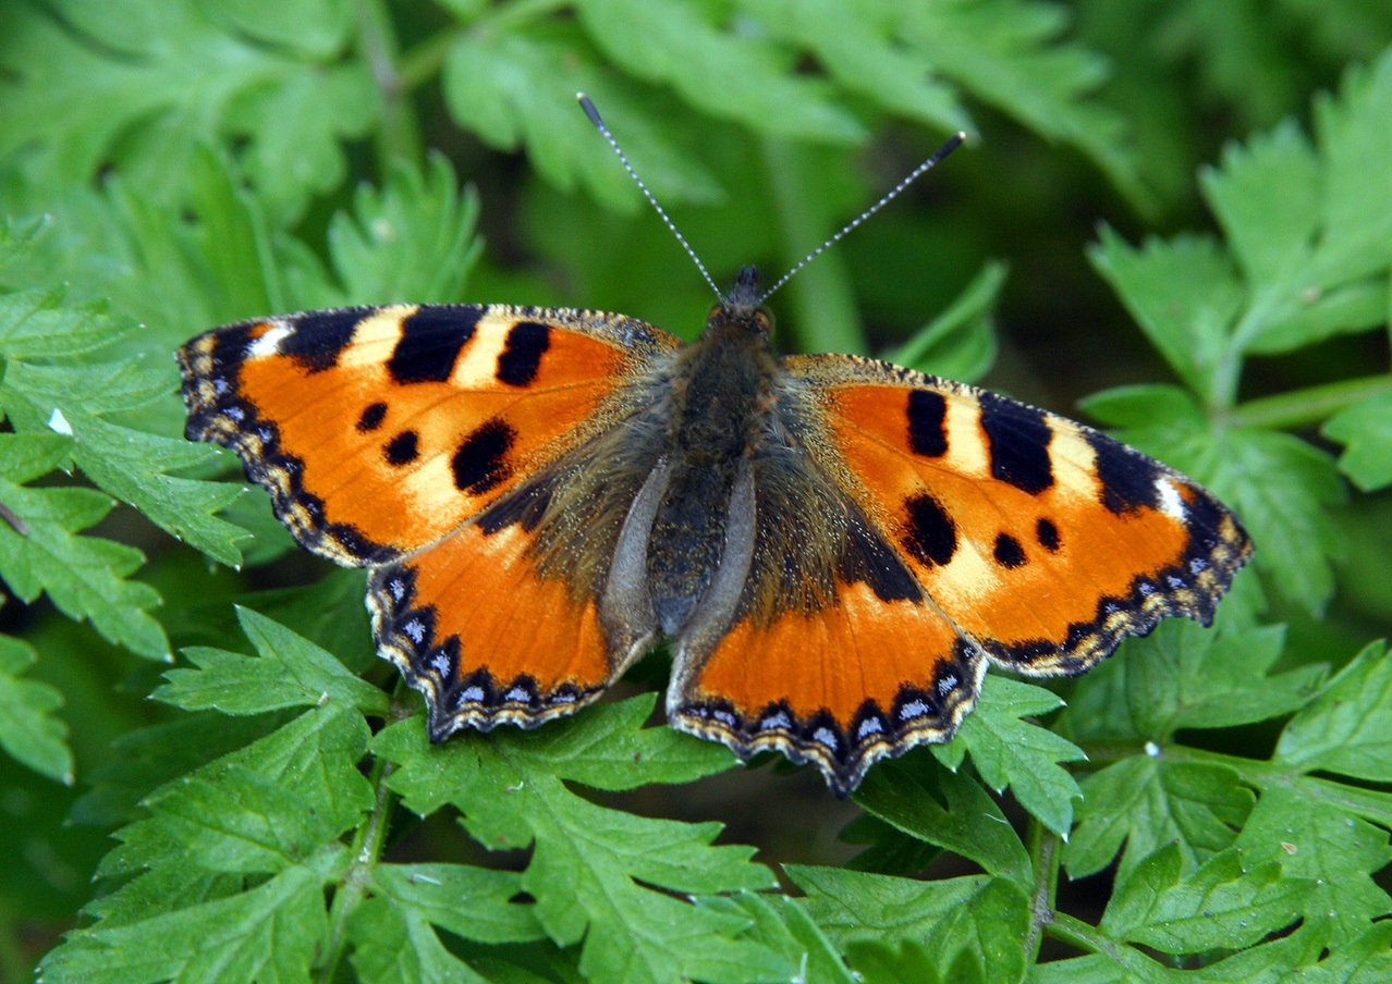
[[[955,850],[1029,891],[1033,875],[1025,845],[986,791],[965,775],[881,763],[855,800],[905,834]]]

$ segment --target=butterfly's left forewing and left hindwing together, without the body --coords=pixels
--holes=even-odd
[[[441,739],[574,711],[632,658],[599,626],[593,558],[642,475],[592,469],[611,494],[590,522],[541,519],[553,466],[621,440],[679,345],[617,315],[397,305],[244,322],[178,358],[188,437],[234,448],[302,544],[376,568],[379,651]]]

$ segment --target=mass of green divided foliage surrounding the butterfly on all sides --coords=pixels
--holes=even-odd
[[[0,978],[1392,978],[1392,11],[1075,7],[0,6]],[[1132,320],[1082,345],[1139,327],[1173,383],[1086,409],[1247,525],[1219,628],[1166,624],[1054,689],[990,675],[954,742],[871,770],[859,853],[818,863],[770,830],[761,863],[717,843],[699,791],[735,763],[644,727],[651,693],[430,746],[361,573],[287,586],[264,495],[178,438],[168,352],[390,301],[699,324],[578,89],[717,271],[791,264],[863,209],[898,177],[866,148],[883,171],[944,129],[1004,138],[1018,171],[944,178],[969,212],[896,203],[789,284],[806,351],[866,351],[870,310],[891,358],[979,379],[1012,289],[992,230],[1052,277],[1027,266],[1058,252],[1050,189],[1115,192],[1090,259]],[[1215,106],[1261,131],[1218,154]],[[1128,206],[1203,221],[1205,157],[1212,231],[1115,231]],[[834,816],[813,802],[778,811]]]

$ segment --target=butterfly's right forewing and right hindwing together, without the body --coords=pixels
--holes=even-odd
[[[948,740],[986,657],[1079,674],[1166,615],[1207,625],[1251,553],[1210,493],[1082,424],[871,359],[784,369],[786,430],[839,493],[800,522],[834,516],[810,539],[839,546],[775,533],[792,550],[763,553],[791,554],[784,571],[756,568],[709,653],[678,650],[668,693],[678,727],[739,754],[814,761],[845,793],[877,759]],[[786,511],[761,495],[759,534]],[[771,604],[799,594],[770,590],[788,569],[802,601]]]

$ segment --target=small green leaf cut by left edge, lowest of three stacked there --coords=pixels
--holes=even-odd
[[[72,785],[68,729],[53,717],[63,695],[47,683],[19,679],[38,658],[28,643],[0,636],[0,747],[35,772]]]

